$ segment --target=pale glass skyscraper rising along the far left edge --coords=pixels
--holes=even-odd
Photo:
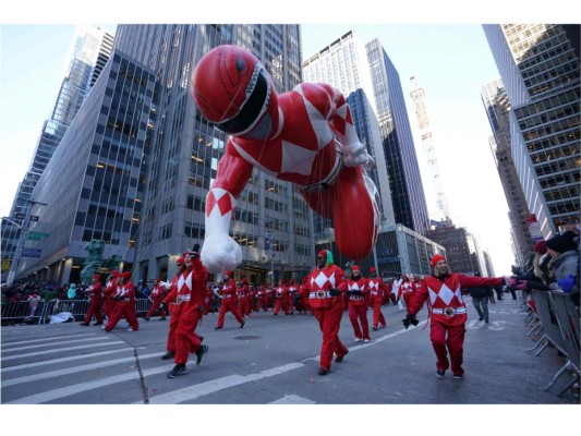
[[[23,223],[32,192],[109,59],[113,39],[113,35],[101,27],[76,27],[55,107],[43,124],[31,166],[14,196],[10,213],[13,221]],[[20,229],[2,223],[3,259],[14,258],[20,237]]]

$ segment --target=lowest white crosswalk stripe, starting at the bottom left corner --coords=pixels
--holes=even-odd
[[[168,372],[168,365],[158,366],[143,372],[145,377]],[[46,392],[35,393],[28,397],[19,398],[13,401],[8,401],[4,404],[41,404],[44,402],[58,400],[60,398],[70,397],[75,393],[85,392],[87,390],[101,388],[104,386],[114,385],[117,383],[138,379],[140,374],[134,371],[126,374],[114,375],[111,377],[100,378],[95,382],[80,383],[77,385],[66,386],[59,389],[48,390]]]

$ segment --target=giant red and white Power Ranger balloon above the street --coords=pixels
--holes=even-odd
[[[277,95],[251,51],[223,45],[197,63],[192,97],[202,114],[230,135],[206,197],[201,256],[208,271],[221,274],[242,262],[242,250],[228,230],[255,167],[294,183],[312,209],[334,220],[341,254],[367,256],[377,239],[378,207],[377,190],[363,168],[375,162],[359,141],[351,109],[338,89],[302,83]],[[349,204],[358,207],[344,207]]]

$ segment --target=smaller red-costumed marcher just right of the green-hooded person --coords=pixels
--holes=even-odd
[[[363,339],[370,341],[370,323],[367,322],[366,296],[370,294],[367,279],[361,276],[359,265],[351,268],[351,278],[347,281],[347,295],[349,296],[349,320],[353,326],[355,342]]]

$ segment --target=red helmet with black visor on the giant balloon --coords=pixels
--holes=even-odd
[[[277,129],[273,81],[261,61],[242,47],[218,46],[199,60],[192,74],[192,98],[225,133],[266,138]]]

